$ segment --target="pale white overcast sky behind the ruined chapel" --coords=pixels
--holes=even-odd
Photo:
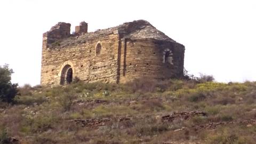
[[[144,19],[185,45],[190,74],[218,82],[256,81],[256,1],[0,1],[0,65],[13,83],[40,83],[42,34],[59,21],[89,23],[89,31]]]

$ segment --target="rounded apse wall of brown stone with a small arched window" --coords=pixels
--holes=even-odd
[[[124,83],[138,77],[157,79],[183,75],[184,46],[154,39],[123,39],[121,78]],[[169,52],[169,61],[163,56]]]

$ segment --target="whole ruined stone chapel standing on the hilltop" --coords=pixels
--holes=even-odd
[[[42,85],[60,85],[78,77],[85,82],[125,83],[134,78],[183,75],[185,47],[145,20],[87,32],[81,22],[59,22],[43,34]]]

